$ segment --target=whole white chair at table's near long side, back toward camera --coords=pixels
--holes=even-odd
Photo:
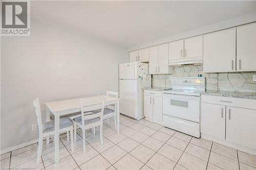
[[[97,98],[83,98],[80,100],[81,116],[73,119],[74,134],[76,134],[76,126],[82,129],[82,144],[83,153],[86,153],[86,130],[100,127],[100,143],[103,144],[102,125],[103,125],[103,110],[104,110],[105,96]],[[99,109],[100,112],[93,113],[92,110]],[[90,112],[88,112],[90,111]],[[76,135],[75,135],[76,142]]]

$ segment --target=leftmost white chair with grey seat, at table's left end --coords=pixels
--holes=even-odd
[[[41,107],[38,98],[33,101],[33,105],[35,107],[35,113],[37,116],[38,130],[39,130],[39,141],[38,141],[38,155],[36,164],[40,162],[41,154],[42,154],[42,139],[44,137],[54,135],[55,134],[55,125],[54,121],[42,123],[41,120]],[[70,131],[71,134],[71,150],[74,152],[74,141],[73,141],[73,121],[69,117],[64,117],[59,119],[59,133]]]

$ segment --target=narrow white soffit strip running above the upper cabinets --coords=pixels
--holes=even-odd
[[[250,23],[250,22],[255,22],[255,21],[256,21],[256,12],[253,12],[248,15],[231,18],[231,19],[224,20],[221,22],[213,23],[208,26],[204,26],[204,27],[200,27],[200,28],[197,28],[194,30],[175,34],[172,36],[166,35],[166,37],[163,37],[160,39],[156,39],[153,41],[148,41],[148,42],[145,42],[142,44],[131,46],[131,47],[129,47],[129,51],[134,51],[134,50],[138,50],[138,49],[149,47],[149,46],[154,46],[154,45],[171,42],[171,41],[175,41],[175,40],[179,40],[179,39],[183,39],[183,38],[193,37],[196,35],[206,34],[206,33],[214,32],[214,31],[219,31],[219,30],[223,30],[223,29],[227,29],[227,28],[231,28],[231,27],[236,27],[239,25],[243,25],[245,23]]]

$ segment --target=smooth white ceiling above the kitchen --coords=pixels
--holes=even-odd
[[[256,11],[256,1],[31,1],[31,18],[130,47]]]

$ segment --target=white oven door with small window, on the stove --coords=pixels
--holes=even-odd
[[[164,93],[163,114],[199,123],[200,96]]]

